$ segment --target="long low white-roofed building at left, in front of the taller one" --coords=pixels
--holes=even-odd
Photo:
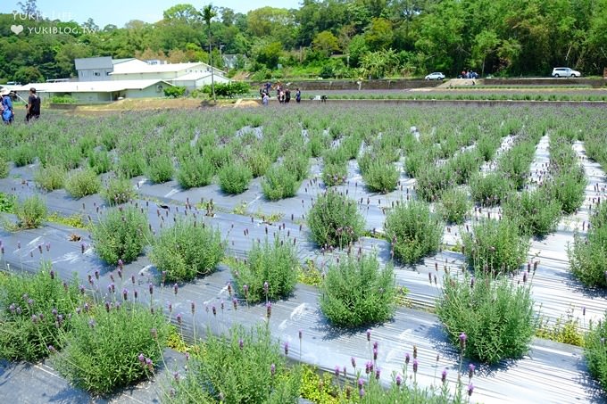
[[[27,86],[10,87],[27,100],[29,88],[36,88],[41,99],[69,96],[77,103],[109,103],[119,98],[149,98],[164,96],[164,89],[172,87],[159,79],[69,81],[62,83],[30,83]]]

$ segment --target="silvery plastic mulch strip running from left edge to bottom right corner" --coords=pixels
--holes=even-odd
[[[36,270],[37,261],[44,256],[54,261],[58,276],[67,280],[72,271],[77,270],[80,281],[87,285],[87,274],[92,274],[99,268],[98,262],[92,254],[81,253],[78,246],[68,245],[67,247],[71,248],[67,250],[71,251],[65,251],[66,245],[61,241],[70,231],[70,228],[64,227],[44,227],[15,235],[2,234],[4,245],[14,246],[21,241],[21,249],[18,251],[5,251],[3,266],[10,264],[12,270]],[[42,254],[37,249],[37,245],[43,242],[52,243],[48,254],[45,249]],[[21,254],[21,251],[26,253]],[[29,256],[28,251],[33,252],[33,258]],[[54,259],[56,255],[65,257],[66,254],[71,260]],[[149,266],[146,257],[126,266],[123,274],[123,282],[114,274],[118,282],[117,289],[127,288],[131,296],[137,289],[139,301],[149,304],[149,282],[154,282],[157,273]],[[135,276],[135,284],[131,283],[130,276]],[[190,336],[194,334],[194,325],[195,334],[204,337],[207,330],[219,334],[234,324],[253,326],[266,321],[266,309],[263,305],[247,307],[246,302],[240,300],[237,309],[233,309],[227,288],[230,279],[228,268],[221,266],[212,276],[199,279],[193,284],[181,285],[177,295],[173,293],[171,285],[162,287],[155,284],[152,300],[156,308],[165,308],[166,315],[169,315],[166,308],[171,302],[173,310],[170,316],[173,323],[175,317],[181,314],[184,320],[181,331]],[[104,271],[94,290],[110,299],[107,292],[110,283],[110,272]],[[195,302],[194,314],[190,309],[191,301]],[[216,316],[212,315],[213,307]],[[327,371],[340,366],[346,367],[348,373],[353,375],[355,372],[350,365],[352,357],[356,360],[359,370],[370,360],[365,330],[344,332],[328,326],[326,319],[320,314],[318,293],[312,287],[299,285],[287,301],[273,302],[270,329],[280,342],[289,342],[290,359],[301,360]],[[301,350],[298,339],[300,329],[303,333]],[[420,385],[437,383],[435,375],[440,375],[443,368],[447,368],[449,372],[450,384],[456,382],[456,369],[459,367],[457,352],[446,341],[437,317],[431,314],[420,310],[399,309],[395,318],[386,325],[371,327],[371,342],[378,342],[378,366],[382,370],[382,380],[385,383],[391,380],[393,371],[402,371],[404,355],[407,352],[412,354],[413,345],[417,346],[419,351],[420,370],[417,380]],[[437,354],[440,355],[438,363]],[[464,369],[467,364],[468,362],[464,361]],[[409,371],[411,374],[411,368]],[[524,359],[504,362],[497,367],[478,367],[478,375],[474,376],[472,383],[475,385],[473,402],[600,401],[596,395],[595,383],[590,381],[586,374],[581,350],[553,342],[536,340],[529,355]]]

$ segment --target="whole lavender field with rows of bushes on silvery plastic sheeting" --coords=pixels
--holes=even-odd
[[[42,348],[0,335],[0,357],[46,360],[74,402],[145,380],[138,400],[603,402],[604,117],[328,103],[4,127],[0,323]],[[58,334],[14,292],[40,273],[74,288],[45,298]],[[79,345],[108,334],[121,371]],[[132,380],[93,376],[112,372]]]

